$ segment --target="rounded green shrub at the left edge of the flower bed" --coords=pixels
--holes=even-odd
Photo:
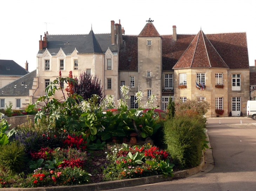
[[[11,173],[20,172],[26,164],[27,157],[23,145],[12,142],[10,145],[0,147],[0,168]]]

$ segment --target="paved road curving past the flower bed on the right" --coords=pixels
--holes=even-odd
[[[256,124],[251,124],[255,122],[250,118],[208,119],[208,135],[215,160],[213,169],[208,166],[204,172],[188,178],[115,190],[255,191]]]

